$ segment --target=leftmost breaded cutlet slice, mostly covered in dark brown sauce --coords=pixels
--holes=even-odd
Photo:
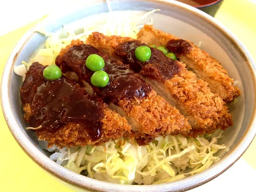
[[[20,89],[24,119],[48,147],[100,145],[130,133],[127,120],[100,98],[64,77],[46,80],[46,66],[33,63]]]

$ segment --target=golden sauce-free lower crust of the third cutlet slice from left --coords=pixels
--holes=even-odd
[[[222,98],[212,93],[208,83],[196,78],[193,72],[184,69],[166,80],[165,85],[178,104],[196,120],[190,133],[192,136],[210,133],[218,128],[225,130],[233,125],[232,114],[228,113]]]

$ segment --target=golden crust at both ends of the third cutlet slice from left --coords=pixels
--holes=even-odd
[[[118,44],[132,40],[132,38],[104,36],[94,32],[88,37],[87,43],[106,50],[108,54],[112,54],[112,57],[118,58],[115,55]],[[122,58],[119,59],[122,60]],[[162,84],[176,101],[176,106],[180,106],[188,115],[193,129],[189,136],[213,132],[218,128],[224,130],[232,126],[232,115],[228,113],[222,98],[212,93],[207,85],[207,82],[199,80],[193,72],[186,70],[185,66],[179,74],[174,75],[170,80],[165,80]]]

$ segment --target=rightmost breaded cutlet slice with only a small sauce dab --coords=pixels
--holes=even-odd
[[[230,102],[240,95],[239,88],[234,86],[234,80],[228,76],[228,72],[220,62],[192,42],[157,30],[150,25],[144,25],[138,32],[137,38],[142,43],[166,46],[198,78],[208,82],[212,92],[219,94],[224,102]]]

